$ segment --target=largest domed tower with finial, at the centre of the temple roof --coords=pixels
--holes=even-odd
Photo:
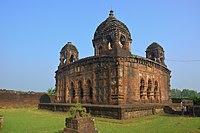
[[[130,56],[131,34],[124,23],[117,20],[113,11],[94,33],[92,40],[95,55]]]

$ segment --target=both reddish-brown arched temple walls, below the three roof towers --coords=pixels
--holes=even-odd
[[[142,96],[141,79],[144,79]],[[147,91],[149,80],[151,91]],[[92,98],[88,81],[91,82]],[[155,82],[158,83],[157,92],[154,92]],[[73,97],[71,84],[75,90]],[[59,68],[56,72],[56,88],[56,100],[60,103],[119,105],[168,102],[170,71],[142,57],[88,57]]]

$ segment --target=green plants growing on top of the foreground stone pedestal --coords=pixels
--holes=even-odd
[[[86,109],[83,108],[80,103],[76,103],[75,107],[69,109],[68,118],[76,118],[77,113],[79,113],[80,116],[91,116],[89,113],[86,113]]]

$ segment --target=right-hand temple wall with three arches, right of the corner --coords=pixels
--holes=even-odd
[[[170,71],[165,67],[143,58],[121,58],[119,64],[125,104],[170,102]],[[144,90],[141,93],[142,79]]]

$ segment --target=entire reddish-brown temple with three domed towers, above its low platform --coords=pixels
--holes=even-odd
[[[127,105],[170,102],[170,73],[164,49],[156,42],[146,57],[131,54],[127,26],[113,11],[96,29],[94,56],[79,59],[68,42],[60,52],[56,71],[56,102]]]

